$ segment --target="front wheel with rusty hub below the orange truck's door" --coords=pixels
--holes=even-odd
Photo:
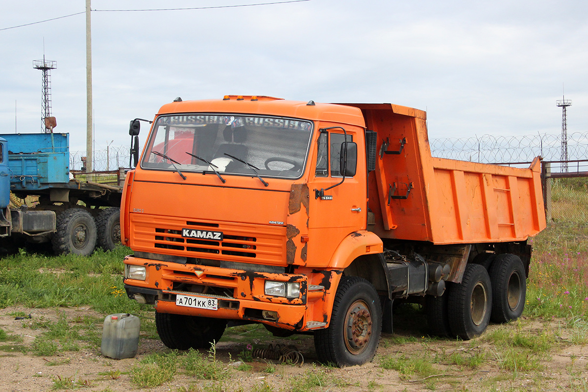
[[[375,287],[356,276],[341,278],[330,325],[315,332],[319,361],[336,366],[360,365],[376,353],[382,331],[382,307]]]

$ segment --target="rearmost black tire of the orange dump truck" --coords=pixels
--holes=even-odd
[[[523,314],[527,279],[523,262],[515,254],[499,254],[490,267],[492,315],[495,323],[507,323]]]

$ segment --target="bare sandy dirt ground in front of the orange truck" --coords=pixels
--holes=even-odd
[[[35,336],[42,333],[41,329],[26,327],[30,320],[15,320],[15,311],[31,313],[32,319],[57,320],[58,313],[55,309],[25,309],[22,307],[11,307],[0,309],[0,328],[9,336],[22,337],[22,343],[30,344]],[[68,319],[76,316],[98,316],[91,309],[59,309],[65,313]],[[413,320],[419,323],[419,320]],[[526,329],[537,331],[552,328],[562,331],[559,328],[560,321],[552,321],[550,325],[533,321],[526,324]],[[396,327],[395,327],[396,328]],[[489,331],[504,326],[489,327]],[[515,330],[515,326],[509,326]],[[410,333],[396,329],[397,334]],[[539,333],[539,332],[538,332]],[[420,333],[419,333],[420,334]],[[264,381],[269,384],[273,391],[289,391],[292,388],[293,380],[305,377],[309,372],[322,371],[328,376],[329,385],[316,387],[320,391],[526,391],[526,390],[588,390],[588,348],[586,346],[574,346],[569,337],[559,333],[562,343],[554,345],[554,349],[545,355],[541,361],[540,370],[531,373],[517,372],[512,370],[501,370],[497,366],[495,354],[490,343],[483,339],[474,341],[455,340],[426,340],[425,337],[416,336],[412,333],[412,343],[403,343],[400,346],[390,344],[392,335],[383,334],[382,341],[377,351],[375,360],[362,366],[348,368],[321,367],[313,363],[316,361],[312,337],[303,337],[297,340],[299,351],[305,357],[302,366],[276,364],[276,371],[268,374],[262,371],[266,366],[263,363],[252,363],[253,369],[248,371],[233,370],[232,377],[226,382],[226,390],[238,390],[239,386],[243,391],[251,390],[254,386],[260,386]],[[419,341],[421,340],[422,341]],[[11,342],[0,343],[1,345]],[[272,343],[254,341],[255,344]],[[273,343],[280,343],[278,338]],[[5,346],[6,347],[6,346]],[[218,359],[222,360],[227,367],[243,348],[242,342],[220,342],[217,346]],[[74,377],[75,380],[89,381],[89,387],[80,387],[89,391],[129,391],[141,390],[131,383],[129,370],[137,364],[146,354],[164,352],[165,346],[156,339],[139,340],[139,352],[135,358],[112,360],[103,357],[97,349],[81,349],[80,351],[68,351],[52,357],[39,357],[29,353],[23,354],[15,350],[0,351],[0,391],[49,391],[53,390],[54,379],[61,377]],[[438,369],[437,374],[428,378],[417,375],[404,376],[396,370],[385,370],[380,366],[379,359],[387,354],[402,353],[406,357],[420,356],[433,359],[439,356],[447,357],[456,352],[472,352],[472,350],[486,350],[486,360],[475,369],[458,367],[456,365],[435,363]],[[62,363],[53,365],[51,363]],[[101,373],[121,371],[120,377],[113,379]],[[188,388],[191,384],[206,386],[209,381],[196,380],[193,377],[178,373],[172,381],[163,384],[161,387],[148,388],[149,391],[178,391]]]

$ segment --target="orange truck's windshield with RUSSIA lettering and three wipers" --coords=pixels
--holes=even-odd
[[[298,178],[312,122],[249,115],[159,116],[141,167],[182,172]]]

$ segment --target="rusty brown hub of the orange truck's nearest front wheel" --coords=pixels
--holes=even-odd
[[[365,350],[372,335],[372,324],[368,304],[361,300],[351,304],[345,324],[345,345],[350,353],[359,354]]]

